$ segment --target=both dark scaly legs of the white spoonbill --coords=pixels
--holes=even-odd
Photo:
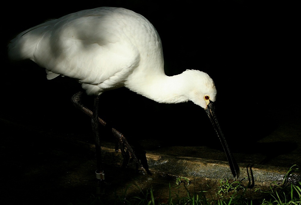
[[[81,99],[82,99],[82,92],[77,92],[75,95],[72,96],[72,101],[73,101],[73,104],[79,108],[80,110],[82,110],[84,113],[86,113],[88,116],[92,117],[92,126],[95,126],[98,120],[98,122],[102,125],[102,126],[107,126],[107,123],[102,120],[100,117],[98,117],[98,114],[97,113],[93,113],[90,109],[88,109],[87,107],[85,107],[82,102],[81,102]],[[94,102],[94,109],[96,110],[97,112],[97,109],[98,109],[98,100],[99,100],[99,97],[96,99],[95,98],[95,102]],[[95,107],[97,104],[97,107]],[[96,120],[97,119],[97,120]],[[93,125],[94,124],[94,125]],[[96,127],[98,127],[98,124],[96,125]],[[94,133],[99,133],[98,129],[95,130],[96,128],[93,127],[93,131]],[[120,151],[121,151],[121,154],[123,156],[123,166],[127,165],[127,163],[129,162],[129,156],[128,154],[126,154],[126,152],[124,151],[125,150],[125,147],[126,149],[128,150],[129,154],[133,157],[133,159],[135,160],[135,162],[138,164],[138,166],[141,167],[141,169],[149,174],[151,174],[151,172],[149,171],[148,168],[146,168],[147,170],[144,169],[144,166],[145,167],[148,167],[147,165],[147,162],[146,162],[146,165],[142,166],[142,164],[140,163],[140,161],[138,160],[138,158],[136,157],[132,147],[129,145],[128,141],[126,140],[126,138],[124,137],[124,135],[122,133],[120,133],[118,130],[112,128],[112,133],[113,135],[117,138],[118,140],[118,144],[120,145]],[[95,148],[96,146],[99,146],[98,150],[101,152],[101,149],[100,149],[100,139],[99,139],[99,134],[98,136],[95,136],[97,137],[98,139],[95,138],[95,143],[98,143],[99,145],[96,145],[95,144]],[[115,151],[117,152],[118,151],[118,144],[116,144],[116,148],[115,148]],[[97,151],[98,152],[98,151]],[[98,153],[96,152],[96,154],[98,155]],[[99,154],[99,156],[101,156],[101,153]],[[98,159],[99,158],[99,159]],[[141,159],[144,159],[144,157],[142,157]],[[101,163],[101,159],[100,157],[97,157],[97,161],[100,161],[99,163]],[[144,160],[145,161],[145,160]],[[101,166],[101,165],[100,165]],[[98,169],[98,167],[97,167]]]

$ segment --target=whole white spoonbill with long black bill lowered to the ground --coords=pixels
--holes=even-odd
[[[68,14],[34,26],[11,40],[11,60],[31,59],[46,69],[47,79],[59,75],[77,79],[87,95],[94,95],[94,110],[80,101],[82,92],[73,96],[77,107],[92,117],[95,135],[98,179],[104,179],[101,166],[99,96],[125,86],[158,103],[193,101],[206,110],[228,158],[231,172],[239,177],[232,156],[214,113],[216,87],[208,74],[186,70],[175,76],[164,73],[163,50],[154,26],[142,15],[125,8],[100,7]],[[131,147],[116,129],[124,155],[124,146],[142,169]],[[200,136],[201,138],[202,136]]]

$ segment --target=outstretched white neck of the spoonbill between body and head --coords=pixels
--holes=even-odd
[[[175,104],[189,100],[185,93],[183,73],[175,76],[166,76],[164,73],[132,76],[129,82],[125,83],[127,88],[158,103]]]

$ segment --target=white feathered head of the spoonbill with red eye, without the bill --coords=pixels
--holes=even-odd
[[[186,70],[185,75],[190,79],[186,82],[190,91],[189,100],[206,110],[208,104],[216,100],[216,88],[212,78],[199,70]]]

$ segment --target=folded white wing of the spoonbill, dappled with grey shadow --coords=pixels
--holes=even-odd
[[[11,50],[52,72],[51,78],[55,73],[97,85],[117,73],[124,77],[120,72],[137,66],[139,51],[123,33],[122,15],[114,15],[89,10],[50,20],[17,36]]]

